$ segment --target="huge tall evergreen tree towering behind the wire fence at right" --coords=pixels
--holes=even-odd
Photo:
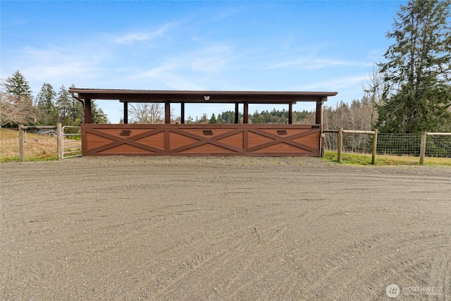
[[[382,133],[451,130],[451,0],[400,6],[395,44],[380,63],[385,84],[376,128]]]

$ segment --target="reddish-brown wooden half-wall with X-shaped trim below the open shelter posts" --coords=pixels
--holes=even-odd
[[[83,156],[319,156],[319,125],[82,124]]]

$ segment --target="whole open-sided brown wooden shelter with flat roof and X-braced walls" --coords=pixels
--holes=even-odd
[[[70,89],[83,104],[82,154],[176,156],[320,156],[322,105],[337,92],[235,92]],[[93,99],[123,103],[124,124],[93,124]],[[128,124],[128,104],[163,103],[164,124]],[[316,123],[292,124],[292,105],[316,102]],[[185,104],[235,104],[234,124],[185,124]],[[180,104],[180,124],[171,105]],[[243,106],[243,123],[238,108]],[[249,104],[287,104],[288,124],[249,124]]]

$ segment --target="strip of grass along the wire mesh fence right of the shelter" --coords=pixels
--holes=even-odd
[[[336,152],[326,152],[323,160],[338,163]],[[393,165],[419,165],[419,157],[417,156],[387,156],[376,155],[376,165],[393,166]],[[341,154],[342,164],[352,165],[372,165],[371,154]],[[451,158],[430,158],[424,159],[424,165],[430,166],[451,166]]]

